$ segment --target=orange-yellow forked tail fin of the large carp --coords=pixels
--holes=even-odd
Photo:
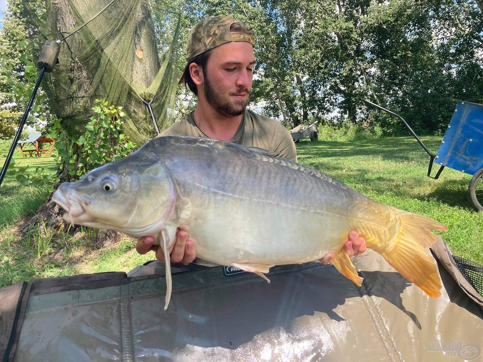
[[[401,221],[396,239],[390,243],[379,243],[375,238],[368,238],[366,245],[430,297],[439,297],[441,279],[438,266],[426,248],[436,241],[436,235],[431,230],[448,231],[448,227],[422,215],[393,210]]]

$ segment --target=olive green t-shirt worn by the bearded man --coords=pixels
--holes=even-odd
[[[159,137],[174,135],[209,138],[196,125],[193,112],[188,113],[181,121],[161,132]],[[280,122],[254,111],[245,110],[235,136],[229,141],[278,152],[278,157],[297,162],[297,151],[288,129]]]

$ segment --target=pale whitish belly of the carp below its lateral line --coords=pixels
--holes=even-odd
[[[191,198],[197,256],[220,265],[301,264],[339,251],[364,221],[347,210],[314,210],[251,197]],[[349,214],[349,215],[347,215]]]

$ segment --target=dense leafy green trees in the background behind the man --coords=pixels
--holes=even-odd
[[[257,64],[252,108],[262,108],[287,126],[318,119],[367,129],[378,126],[385,135],[403,132],[397,120],[368,110],[360,100],[365,97],[400,113],[417,132],[434,133],[445,128],[456,100],[483,101],[481,0],[155,2],[182,12],[181,44],[189,29],[208,15],[227,14],[253,28]],[[33,74],[22,74],[32,58],[28,43],[20,48],[28,26],[18,3],[9,1],[11,14],[4,21],[6,29],[15,31],[0,34],[9,38],[0,46],[9,44],[2,51],[13,74],[0,71],[0,103],[15,102],[11,112],[23,110]],[[184,65],[183,45],[180,71]],[[18,92],[9,93],[9,86]],[[194,102],[189,91],[178,89],[180,117]],[[39,108],[30,121],[42,114],[48,110]]]

